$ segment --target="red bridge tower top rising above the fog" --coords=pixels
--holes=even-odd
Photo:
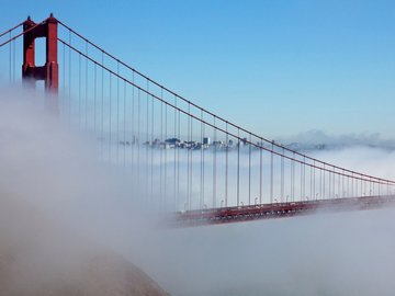
[[[24,82],[45,81],[45,89],[52,93],[58,92],[59,66],[57,62],[57,24],[58,21],[50,13],[44,22],[36,24],[29,16],[23,23],[23,65],[22,78]],[[31,30],[30,30],[31,29]],[[35,65],[35,39],[46,38],[46,60],[44,66]],[[34,83],[33,83],[34,84]]]

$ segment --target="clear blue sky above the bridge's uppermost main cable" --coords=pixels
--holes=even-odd
[[[195,103],[276,138],[395,138],[395,1],[3,1],[49,12]]]

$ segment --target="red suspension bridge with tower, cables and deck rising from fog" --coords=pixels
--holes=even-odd
[[[37,38],[45,38],[45,49],[36,48]],[[10,84],[44,81],[59,118],[93,136],[100,160],[129,170],[131,185],[143,189],[149,206],[173,213],[176,225],[394,204],[395,181],[321,161],[227,121],[53,14],[1,33],[0,48]],[[37,66],[36,54],[44,53]]]

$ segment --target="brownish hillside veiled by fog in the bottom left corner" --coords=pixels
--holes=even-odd
[[[123,257],[0,192],[0,295],[166,296]]]

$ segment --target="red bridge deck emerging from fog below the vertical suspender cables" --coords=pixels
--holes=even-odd
[[[388,206],[395,206],[395,195],[347,197],[187,210],[177,213],[176,217],[172,218],[171,224],[176,227],[201,226],[257,219],[285,218],[314,214],[320,210],[363,210]]]

